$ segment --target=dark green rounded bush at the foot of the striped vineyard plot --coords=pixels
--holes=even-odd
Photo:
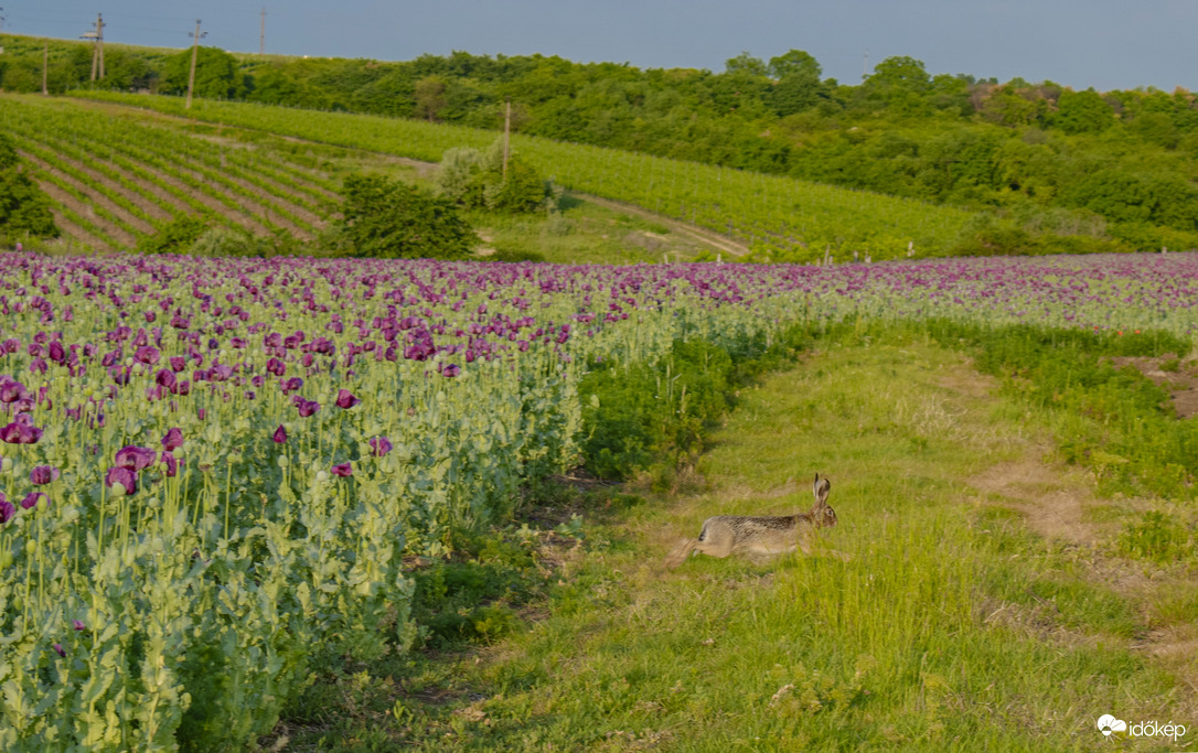
[[[353,256],[462,259],[478,236],[443,196],[374,175],[351,175],[337,232]]]

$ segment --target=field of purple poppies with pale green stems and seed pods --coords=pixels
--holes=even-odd
[[[842,267],[0,257],[0,747],[219,749],[419,626],[405,558],[580,461],[678,340],[949,318],[1192,339],[1190,254]]]

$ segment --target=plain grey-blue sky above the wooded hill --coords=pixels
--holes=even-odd
[[[722,71],[742,51],[806,50],[857,84],[895,55],[931,74],[1100,91],[1198,90],[1198,0],[0,0],[4,31],[105,42],[202,43],[284,55],[411,60],[424,53],[559,55],[640,68]]]

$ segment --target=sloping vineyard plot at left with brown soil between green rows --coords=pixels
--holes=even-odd
[[[152,119],[8,97],[0,127],[53,200],[60,230],[93,250],[132,248],[179,217],[308,239],[337,198],[315,160]]]

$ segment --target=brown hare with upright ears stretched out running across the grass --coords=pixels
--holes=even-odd
[[[836,511],[828,505],[831,481],[821,479],[817,473],[812,491],[816,503],[810,512],[779,516],[716,515],[707,518],[698,539],[689,539],[676,546],[666,557],[665,566],[673,570],[694,551],[712,557],[727,557],[734,553],[783,554],[800,548],[804,554],[812,554],[812,540],[817,529],[836,524]],[[829,553],[841,559],[848,558],[840,552]]]

